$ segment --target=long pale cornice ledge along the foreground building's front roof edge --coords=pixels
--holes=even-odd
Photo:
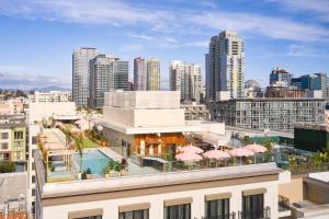
[[[37,162],[41,162],[39,160]],[[36,164],[36,172],[43,172]],[[156,174],[121,176],[113,178],[97,178],[90,181],[70,181],[44,183],[42,178],[42,198],[55,198],[83,194],[106,192],[121,192],[131,189],[144,189],[159,186],[174,186],[181,184],[203,183],[212,181],[225,181],[242,177],[277,175],[283,170],[275,163],[250,164],[243,166],[213,168],[204,170],[190,170],[179,172],[166,172]],[[43,174],[37,174],[42,176]],[[223,185],[222,185],[223,186]]]

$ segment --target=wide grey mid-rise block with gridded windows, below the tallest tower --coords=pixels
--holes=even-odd
[[[242,99],[208,103],[212,120],[229,126],[293,131],[296,123],[325,123],[324,99]]]

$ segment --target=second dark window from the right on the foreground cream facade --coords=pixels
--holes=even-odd
[[[205,205],[205,215],[207,218],[228,219],[229,218],[229,198],[207,200]]]

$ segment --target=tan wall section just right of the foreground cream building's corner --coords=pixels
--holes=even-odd
[[[280,184],[279,195],[288,198],[290,203],[303,200],[303,177],[292,178],[290,183]]]

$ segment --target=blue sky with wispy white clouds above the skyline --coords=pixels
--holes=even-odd
[[[202,67],[209,38],[245,41],[246,80],[269,83],[273,67],[329,72],[329,0],[0,0],[0,88],[71,87],[75,48],[131,62],[159,58]]]

